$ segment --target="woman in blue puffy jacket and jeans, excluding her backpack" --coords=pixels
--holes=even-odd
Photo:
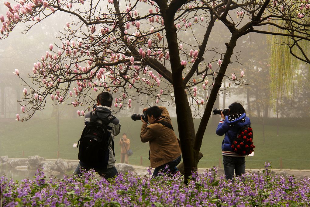
[[[223,165],[226,180],[232,179],[234,172],[240,176],[246,169],[246,155],[239,155],[232,149],[232,139],[244,125],[250,125],[250,119],[246,116],[246,111],[240,103],[232,103],[228,106],[228,114],[225,116],[221,111],[221,120],[216,128],[216,134],[225,134],[222,142]]]

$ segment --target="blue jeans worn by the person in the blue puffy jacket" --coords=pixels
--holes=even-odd
[[[225,179],[232,180],[234,172],[236,176],[245,173],[246,159],[245,157],[232,157],[223,155],[223,165],[225,172]]]

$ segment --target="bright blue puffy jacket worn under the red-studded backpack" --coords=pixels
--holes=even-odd
[[[245,122],[241,122],[245,118]],[[251,125],[250,118],[243,113],[240,117],[233,121],[228,121],[228,116],[225,116],[225,120],[221,119],[219,125],[216,128],[216,134],[222,136],[225,134],[225,137],[222,142],[222,151],[233,151],[232,139],[237,136],[237,133],[241,127],[244,125]]]

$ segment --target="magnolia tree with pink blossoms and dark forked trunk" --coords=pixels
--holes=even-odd
[[[234,49],[240,37],[251,32],[286,37],[281,44],[309,62],[300,44],[310,40],[308,0],[20,0],[4,4],[8,10],[0,16],[2,39],[19,23],[27,23],[27,32],[55,13],[71,16],[65,29],[60,29],[60,43],[49,44],[34,63],[32,81],[15,70],[26,86],[21,103],[22,111],[28,112],[17,115],[17,120],[31,118],[47,99],[85,107],[99,92],[110,91],[114,106],[122,109],[139,102],[140,94],[147,94],[149,105],[168,96],[176,106],[185,182],[197,168],[217,94],[230,82],[242,84],[243,71],[226,73],[228,65],[239,60]],[[224,50],[209,46],[212,31],[221,35],[214,31],[215,25],[230,34],[220,44]],[[224,78],[227,85],[222,84]],[[203,92],[207,89],[209,97]],[[204,108],[197,133],[195,108]]]

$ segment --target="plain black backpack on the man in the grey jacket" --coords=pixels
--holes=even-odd
[[[89,167],[102,167],[108,164],[110,142],[114,155],[114,142],[110,139],[108,124],[116,117],[111,114],[103,117],[101,114],[97,110],[91,112],[91,120],[86,124],[78,141],[77,147],[80,146],[78,159]],[[101,120],[101,124],[97,122],[98,119]]]

